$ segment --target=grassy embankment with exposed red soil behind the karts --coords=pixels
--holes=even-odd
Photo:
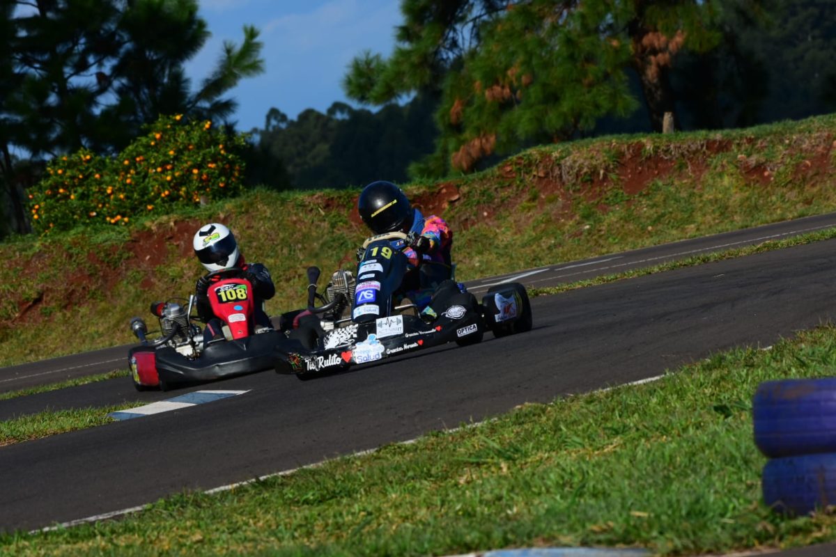
[[[442,188],[458,192],[446,210],[431,207],[451,223],[457,275],[468,280],[836,210],[834,136],[836,115],[584,139],[405,187],[425,206]],[[211,220],[232,225],[247,259],[270,269],[277,295],[268,312],[298,308],[307,266],[322,268],[325,280],[353,264],[365,235],[352,217],[357,194],[254,190],[176,215],[132,218],[131,230],[3,242],[0,366],[131,342],[131,316],[192,291],[201,267],[191,235]]]

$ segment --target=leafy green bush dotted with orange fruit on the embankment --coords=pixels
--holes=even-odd
[[[35,230],[79,224],[126,225],[137,215],[166,213],[240,193],[246,143],[212,122],[164,116],[115,158],[88,149],[52,160],[29,191]]]

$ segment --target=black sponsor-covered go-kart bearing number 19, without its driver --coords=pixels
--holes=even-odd
[[[364,241],[356,281],[351,272],[336,271],[324,296],[316,291],[319,269],[308,269],[308,311],[317,318],[297,319],[298,327],[291,328],[292,314],[283,316],[288,337],[298,343],[291,350],[287,344],[277,348],[276,372],[308,379],[446,342],[475,344],[486,331],[504,337],[531,329],[528,293],[516,282],[493,286],[479,303],[448,280],[420,313],[409,300],[394,306],[392,294],[401,286],[407,259],[392,241],[405,239],[390,232]],[[314,306],[317,299],[324,305]]]

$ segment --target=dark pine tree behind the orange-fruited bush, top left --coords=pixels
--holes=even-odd
[[[226,43],[191,92],[182,66],[209,36],[196,0],[0,0],[0,8],[10,72],[0,85],[8,92],[0,176],[15,206],[13,146],[36,161],[82,147],[115,153],[160,114],[226,119],[236,104],[224,95],[263,71],[258,32],[245,27],[241,46]]]

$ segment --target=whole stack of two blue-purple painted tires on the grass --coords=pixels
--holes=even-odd
[[[752,418],[757,448],[769,458],[764,502],[788,514],[836,505],[836,377],[763,382]]]

